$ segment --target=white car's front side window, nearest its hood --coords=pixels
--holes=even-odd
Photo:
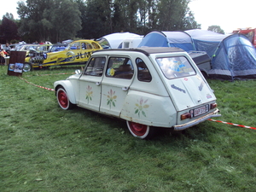
[[[106,62],[105,57],[91,58],[86,69],[84,70],[84,74],[101,77],[103,73],[103,68],[105,66],[105,62]]]

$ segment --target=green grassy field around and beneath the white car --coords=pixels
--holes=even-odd
[[[208,120],[140,140],[124,121],[62,110],[54,91],[32,85],[53,88],[74,70],[19,79],[0,67],[0,191],[256,190],[256,130]],[[208,82],[223,115],[216,119],[256,126],[256,81]]]

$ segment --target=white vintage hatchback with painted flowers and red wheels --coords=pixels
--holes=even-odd
[[[102,49],[81,73],[54,83],[61,108],[73,105],[125,119],[134,137],[183,130],[218,117],[216,97],[178,48]]]

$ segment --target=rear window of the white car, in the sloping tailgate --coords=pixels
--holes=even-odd
[[[184,56],[160,57],[156,59],[167,79],[183,78],[195,75],[195,70]]]

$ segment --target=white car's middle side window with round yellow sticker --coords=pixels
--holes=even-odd
[[[131,79],[134,73],[131,60],[125,57],[110,57],[106,76],[109,78]]]

